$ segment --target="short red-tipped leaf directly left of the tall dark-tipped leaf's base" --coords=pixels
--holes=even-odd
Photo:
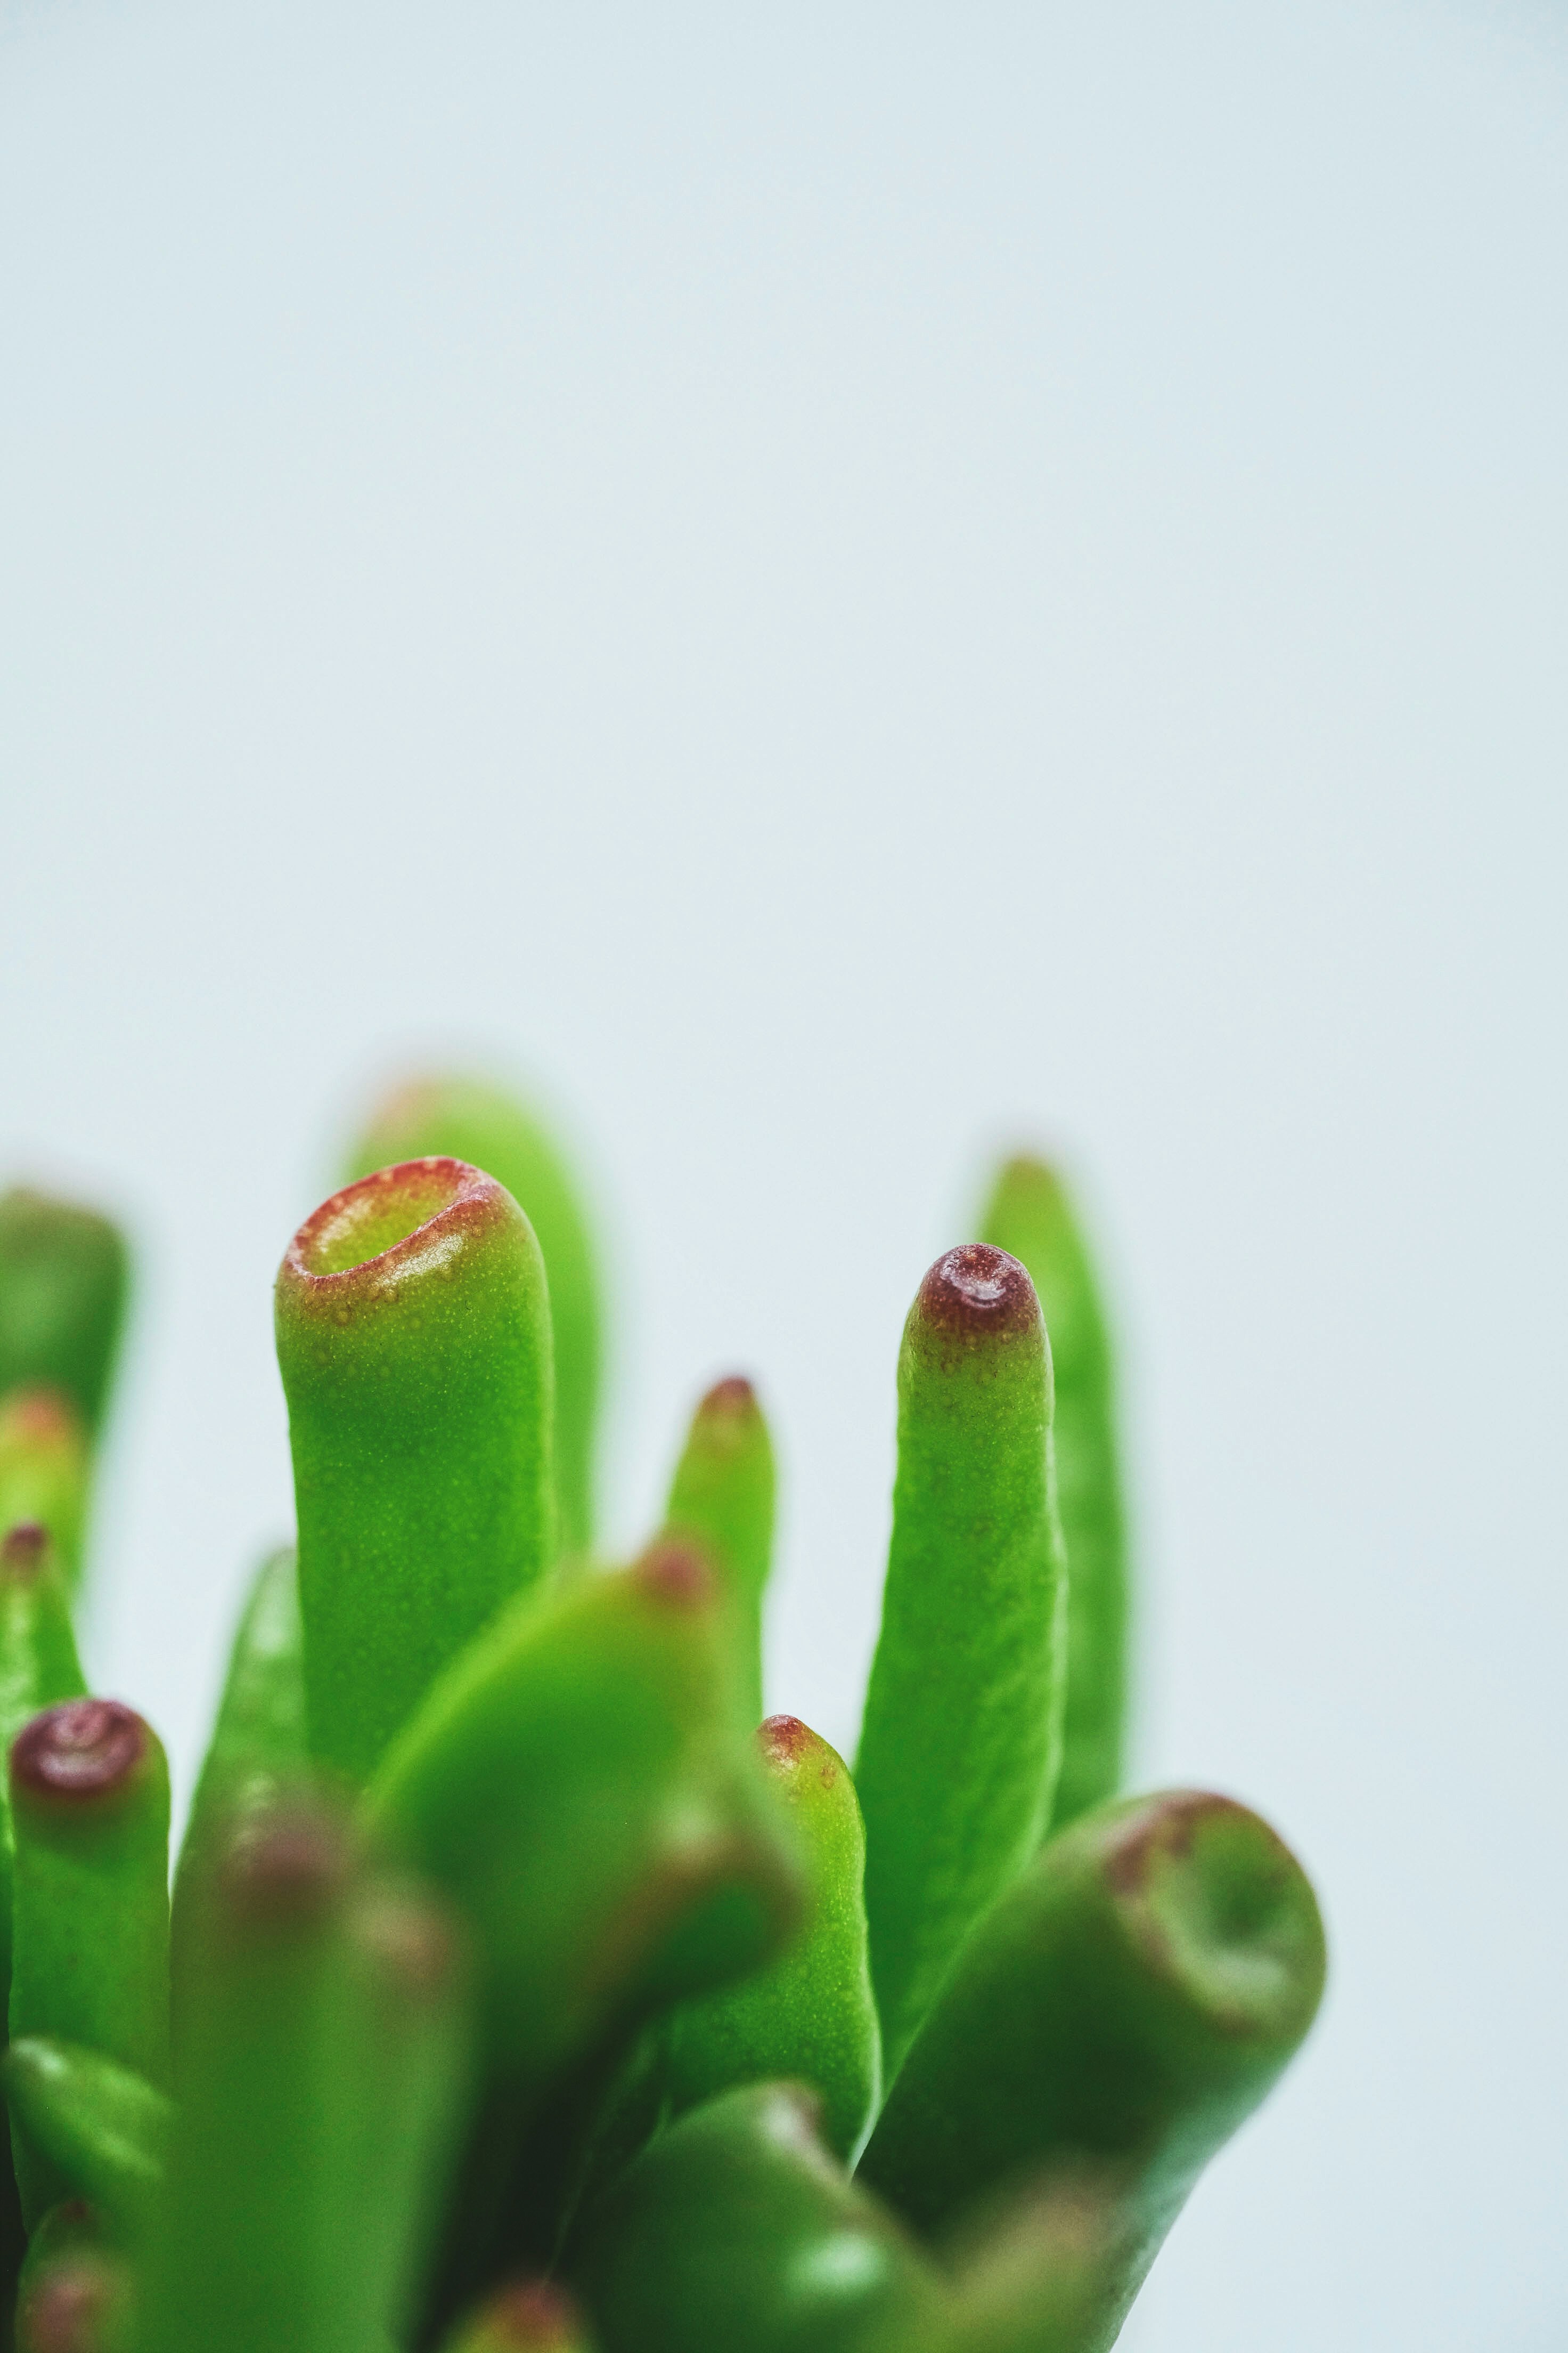
[[[665,2028],[665,2094],[679,2113],[743,2082],[806,2082],[820,2134],[853,2162],[882,2087],[865,1951],[865,1831],[844,1760],[797,1715],[769,1715],[757,1748],[806,1857],[806,1925],[766,1969],[686,2002]]]

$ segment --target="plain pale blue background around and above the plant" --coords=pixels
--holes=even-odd
[[[548,1087],[788,1464],[842,1741],[898,1325],[1060,1139],[1143,1772],[1321,2033],[1138,2353],[1568,2339],[1568,45],[1549,7],[0,5],[0,1158],[146,1278],[94,1657],[188,1772],[364,1087]]]

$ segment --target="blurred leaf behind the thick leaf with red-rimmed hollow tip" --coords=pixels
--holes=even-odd
[[[576,1181],[545,1129],[501,1087],[473,1078],[414,1080],[390,1094],[350,1158],[350,1176],[449,1153],[503,1184],[538,1235],[555,1329],[555,1489],[562,1551],[592,1546],[592,1461],[599,1405],[599,1280]]]

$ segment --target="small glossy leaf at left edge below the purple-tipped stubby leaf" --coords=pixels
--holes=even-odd
[[[146,2075],[49,2035],[12,2042],[0,2064],[12,2122],[66,2184],[139,2238],[162,2188],[172,2106]]]

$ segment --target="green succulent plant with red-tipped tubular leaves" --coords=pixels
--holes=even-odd
[[[158,1737],[71,1628],[122,1304],[103,1219],[0,1202],[24,2353],[1103,2353],[1324,1932],[1246,1807],[1119,1793],[1112,1360],[1058,1176],[1001,1169],[917,1287],[851,1769],[757,1722],[750,1381],[607,1565],[571,1179],[484,1085],[388,1101],[277,1275],[299,1539],[172,1901]]]

